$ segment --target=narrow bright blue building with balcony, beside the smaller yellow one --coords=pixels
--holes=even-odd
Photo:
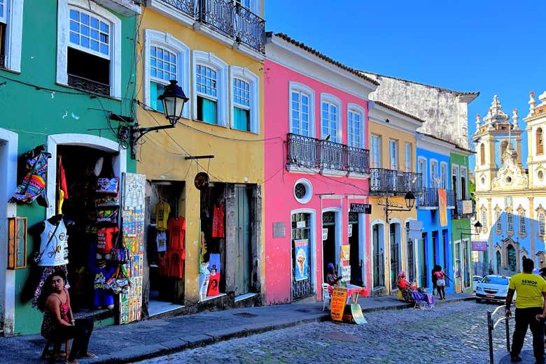
[[[417,133],[417,172],[423,176],[423,190],[418,196],[417,220],[423,227],[416,245],[419,266],[418,285],[432,291],[431,271],[440,265],[449,277],[454,277],[454,259],[451,246],[451,210],[455,197],[449,178],[449,157],[456,145],[435,136]],[[441,221],[438,190],[447,197],[446,219]],[[443,223],[443,224],[442,224]],[[454,292],[454,284],[447,279],[445,291]]]

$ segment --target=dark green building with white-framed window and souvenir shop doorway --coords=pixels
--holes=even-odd
[[[25,167],[21,156],[41,145],[51,155],[45,194],[6,203],[0,210],[1,240],[8,218],[27,219],[27,266],[8,269],[0,249],[0,324],[5,335],[38,333],[42,314],[32,307],[41,270],[39,223],[59,211],[57,186],[64,170],[69,192],[62,204],[69,235],[69,282],[73,308],[113,323],[113,310],[94,310],[90,246],[97,210],[90,206],[93,178],[134,172],[136,162],[118,141],[118,126],[134,115],[135,44],[141,8],[132,0],[0,0],[0,194],[13,196]],[[127,120],[127,119],[125,119]],[[18,160],[19,159],[19,160]],[[59,165],[62,161],[62,167]],[[101,168],[102,166],[102,168]],[[94,215],[94,216],[93,216]],[[93,222],[94,221],[94,222]],[[8,236],[9,235],[9,236]],[[18,235],[18,246],[25,247]],[[25,256],[20,253],[19,259]],[[98,322],[100,323],[100,322]]]

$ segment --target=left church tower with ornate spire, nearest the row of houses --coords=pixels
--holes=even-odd
[[[472,136],[476,148],[476,191],[491,191],[493,181],[498,182],[498,170],[510,159],[510,163],[523,170],[521,165],[521,133],[517,110],[513,110],[512,121],[503,112],[498,96],[493,96],[489,112],[480,120],[476,117],[476,133]],[[515,143],[515,145],[513,144]],[[546,166],[546,164],[545,164]],[[507,177],[503,185],[510,187],[512,180]]]

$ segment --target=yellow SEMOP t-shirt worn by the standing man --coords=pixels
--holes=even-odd
[[[542,307],[546,292],[546,281],[533,273],[518,273],[510,279],[509,289],[517,293],[516,308]]]

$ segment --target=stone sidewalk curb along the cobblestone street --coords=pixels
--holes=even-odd
[[[473,300],[474,297],[464,297],[464,298],[454,298],[445,303],[453,303],[463,300]],[[408,305],[397,305],[397,306],[386,306],[386,307],[370,307],[364,308],[363,313],[366,312],[377,312],[384,310],[404,310],[407,308],[412,308],[412,304]],[[85,361],[85,363],[90,364],[124,364],[132,363],[135,361],[144,361],[146,359],[157,358],[158,356],[165,356],[168,354],[178,353],[186,349],[195,349],[197,347],[207,347],[210,344],[216,344],[217,342],[223,342],[226,340],[236,339],[239,337],[248,337],[252,335],[257,335],[260,333],[267,333],[269,331],[281,330],[283,328],[290,328],[293,326],[302,325],[304,323],[314,323],[314,322],[323,322],[329,321],[330,314],[316,314],[314,317],[309,319],[300,319],[293,321],[286,321],[279,319],[273,321],[272,323],[256,323],[245,326],[244,328],[228,328],[224,330],[217,330],[213,335],[207,333],[193,335],[189,337],[173,338],[168,342],[162,342],[161,344],[149,344],[135,349],[126,350],[123,353],[119,354],[105,354],[99,358],[91,359],[90,361]]]

